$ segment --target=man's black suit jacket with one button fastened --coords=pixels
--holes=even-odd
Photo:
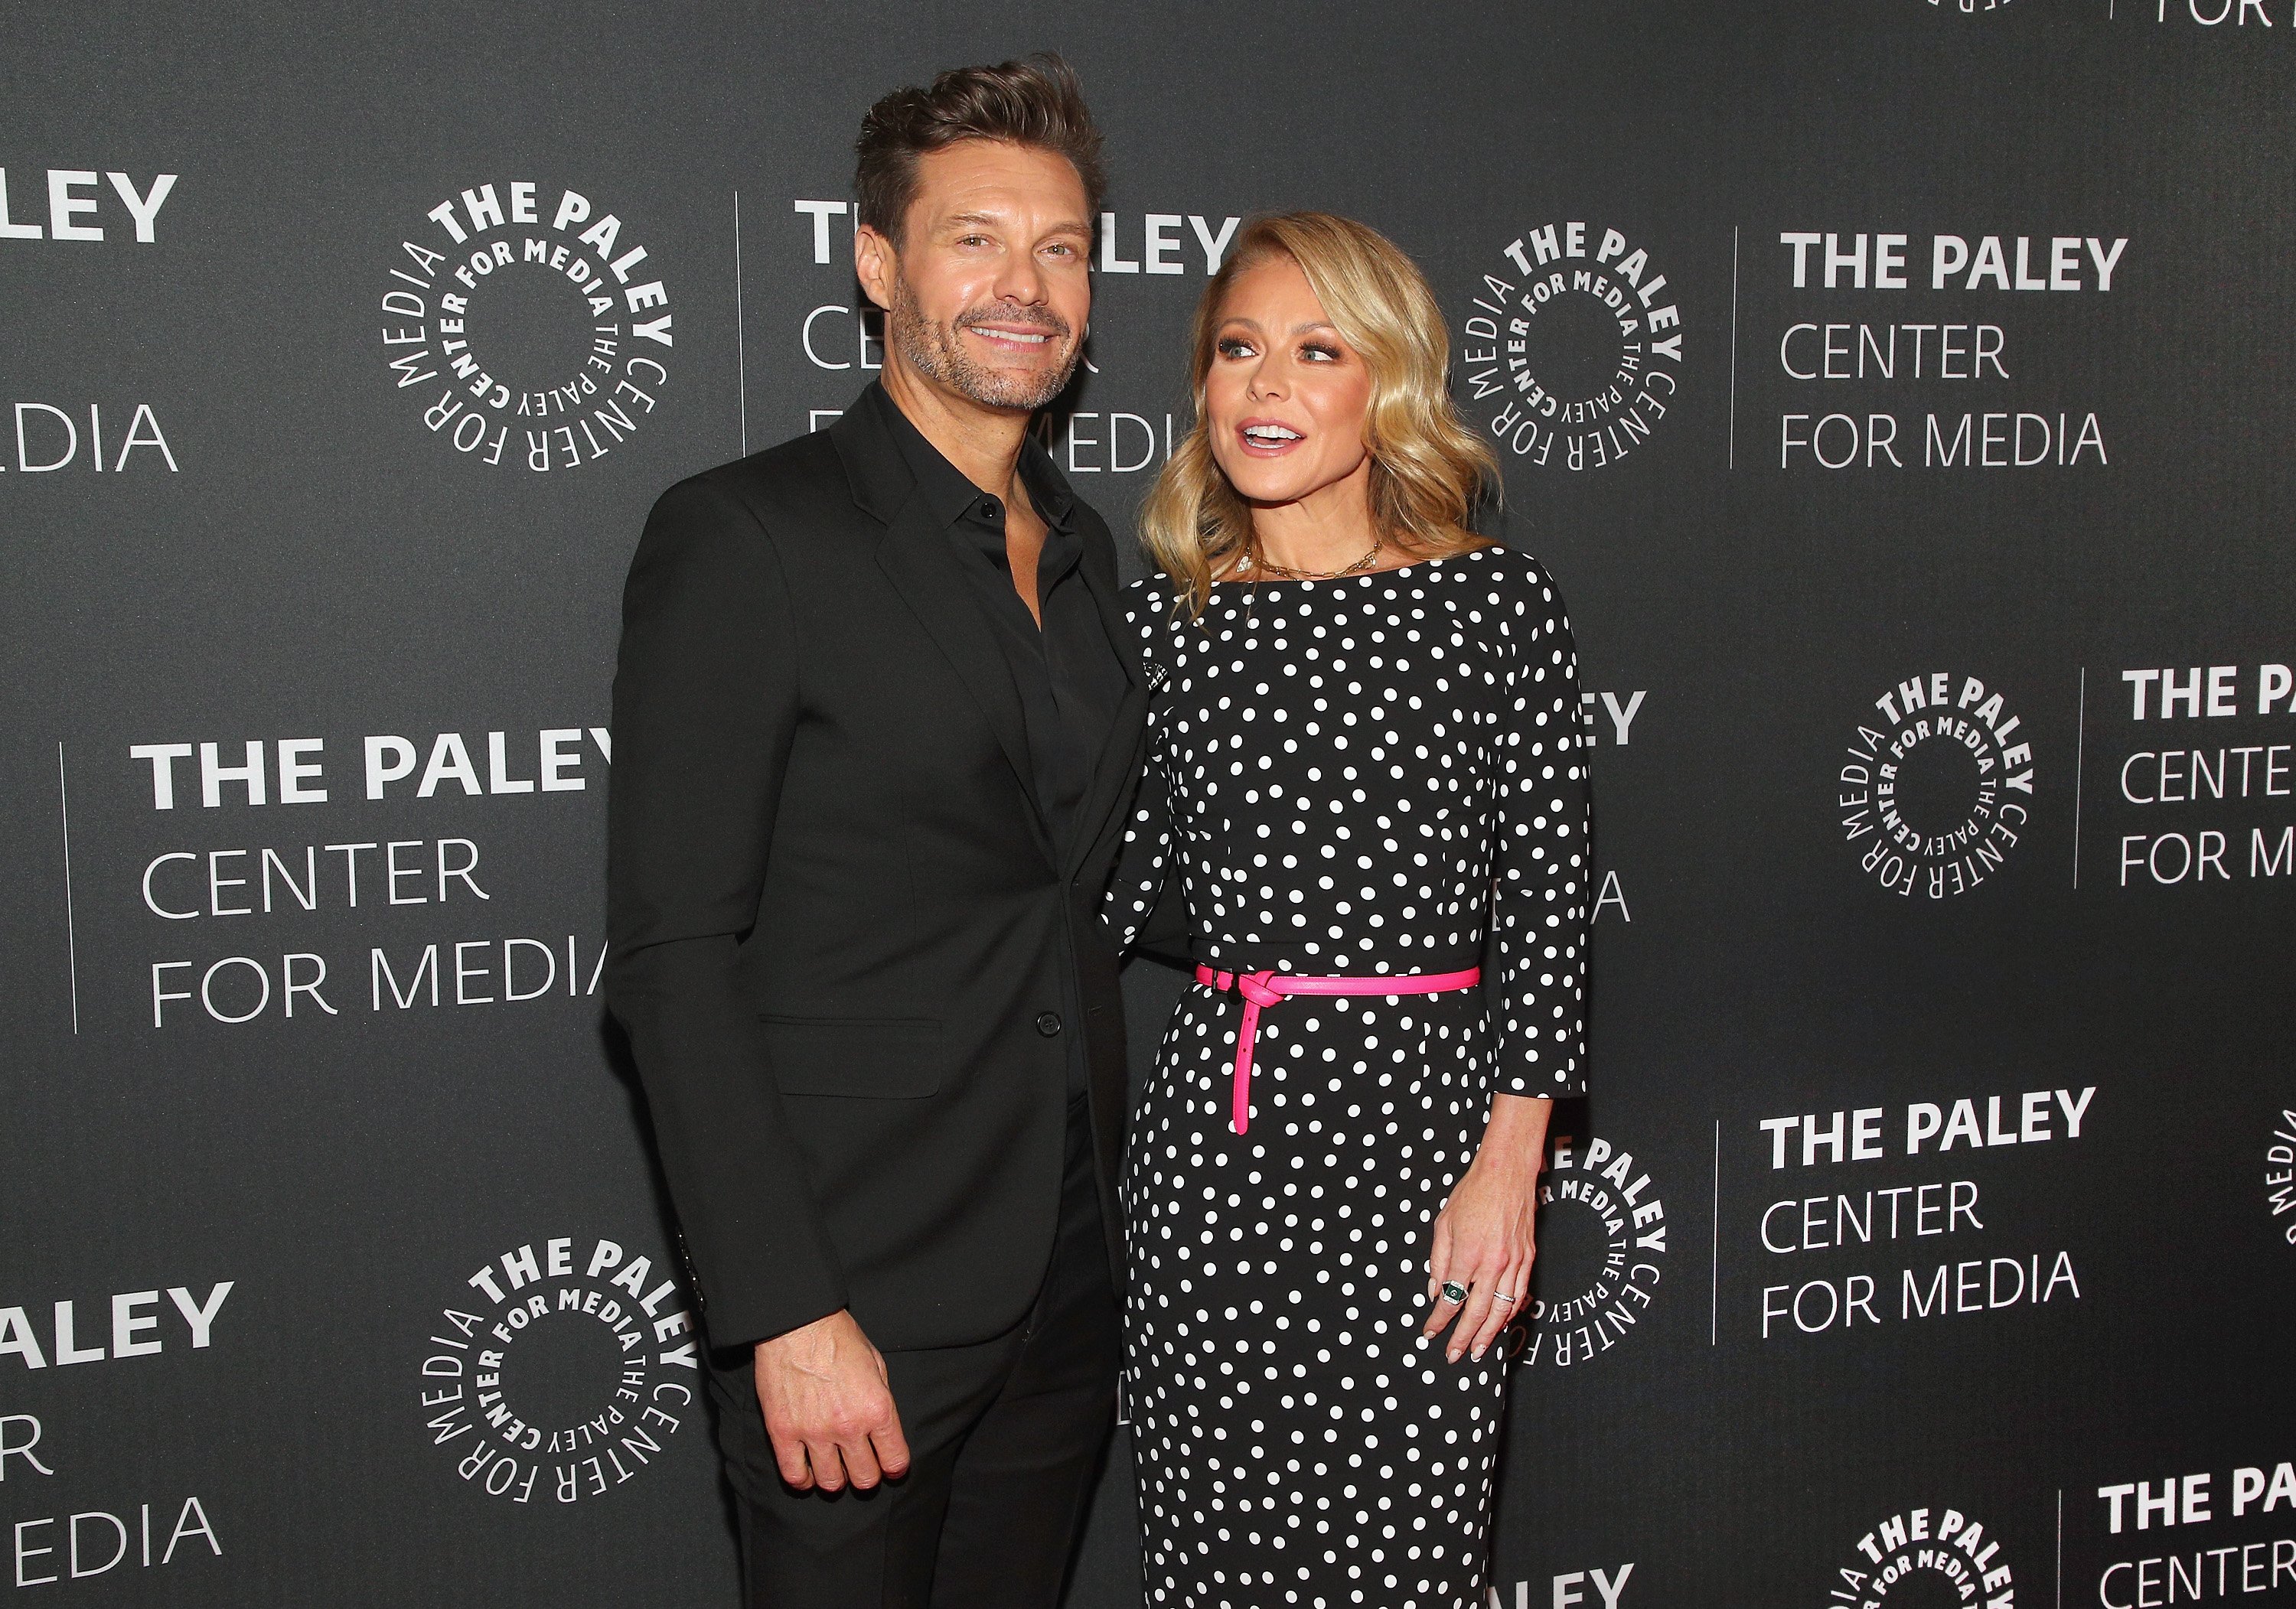
[[[838,1308],[879,1347],[1017,1324],[1052,1253],[1075,1033],[1120,1256],[1097,909],[1148,684],[1109,530],[1081,503],[1077,526],[1130,689],[1056,854],[990,620],[866,409],[670,487],[645,523],[613,682],[606,1001],[714,1345]]]

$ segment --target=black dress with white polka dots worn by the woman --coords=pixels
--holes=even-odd
[[[1506,1377],[1421,1340],[1428,1235],[1492,1093],[1584,1090],[1589,858],[1577,661],[1508,549],[1132,588],[1155,757],[1109,916],[1166,875],[1224,971],[1440,973],[1428,996],[1173,1012],[1125,1177],[1127,1398],[1148,1602],[1476,1604]]]

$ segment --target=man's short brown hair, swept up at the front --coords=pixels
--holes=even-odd
[[[916,158],[957,140],[1010,140],[1065,156],[1097,213],[1100,129],[1077,69],[1042,50],[996,67],[953,67],[930,90],[907,87],[868,108],[854,142],[859,220],[895,246],[916,200]]]

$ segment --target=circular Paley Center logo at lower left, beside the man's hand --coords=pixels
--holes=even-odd
[[[579,1503],[645,1474],[700,1409],[675,1274],[615,1239],[540,1239],[464,1281],[427,1338],[422,1435],[512,1503]]]

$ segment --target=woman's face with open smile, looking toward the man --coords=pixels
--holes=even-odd
[[[1247,503],[1297,503],[1368,480],[1371,372],[1290,257],[1274,255],[1228,285],[1203,404],[1212,457]]]

